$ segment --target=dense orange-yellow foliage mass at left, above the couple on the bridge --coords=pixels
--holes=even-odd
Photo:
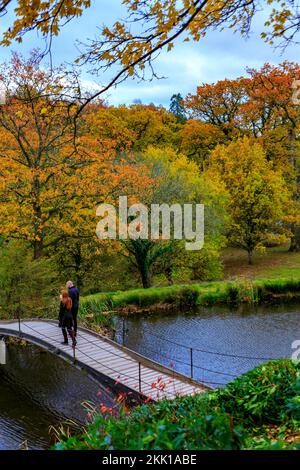
[[[51,89],[47,91],[51,92]],[[57,109],[53,109],[49,105],[44,106],[42,100],[34,102],[33,106],[35,112],[23,103],[23,114],[19,114],[18,119],[26,116],[22,145],[0,127],[0,153],[5,150],[0,174],[0,222],[5,226],[1,233],[5,231],[9,236],[18,232],[30,242],[39,240],[41,232],[45,237],[57,234],[78,236],[78,233],[92,236],[98,201],[113,202],[120,191],[138,199],[137,194],[146,191],[150,185],[147,168],[137,164],[132,155],[126,152],[123,158],[118,158],[116,145],[120,143],[119,149],[124,151],[127,141],[135,139],[123,118],[123,112],[129,111],[127,108],[118,110],[118,117],[113,119],[113,110],[91,105],[91,110],[81,122],[80,139],[74,153],[73,129],[65,127],[66,108],[61,108],[58,103]],[[13,122],[19,108],[20,103],[13,102],[6,111],[11,113]],[[97,112],[94,113],[95,110]],[[145,122],[149,115],[154,116],[155,121],[157,114],[160,116],[162,113],[142,108],[140,116]],[[36,119],[38,115],[49,119]],[[131,118],[133,116],[137,119],[134,111]],[[109,125],[112,128],[109,129]],[[103,137],[100,130],[107,134]],[[54,142],[55,146],[49,142]],[[49,148],[46,152],[44,145]]]

